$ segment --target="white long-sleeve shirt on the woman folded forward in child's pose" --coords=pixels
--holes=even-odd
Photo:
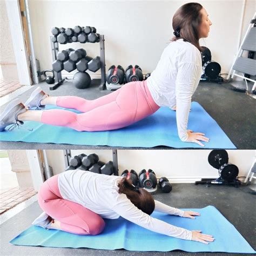
[[[103,218],[117,219],[121,216],[148,230],[191,240],[191,231],[152,218],[134,206],[125,194],[119,194],[118,183],[121,179],[118,176],[70,170],[59,174],[58,187],[64,199],[83,205]],[[159,201],[155,200],[155,203],[155,211],[181,217],[184,214],[184,211]]]

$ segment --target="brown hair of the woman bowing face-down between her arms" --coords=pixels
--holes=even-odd
[[[130,180],[123,178],[118,184],[118,192],[126,194],[126,197],[137,207],[139,210],[147,214],[154,211],[154,199],[152,195],[143,188],[134,187]]]

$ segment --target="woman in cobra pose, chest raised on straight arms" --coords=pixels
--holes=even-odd
[[[187,129],[191,97],[201,77],[199,39],[208,36],[211,21],[198,3],[182,5],[174,14],[174,38],[164,49],[156,69],[142,82],[130,82],[119,90],[95,100],[74,96],[51,97],[38,87],[25,104],[16,99],[0,117],[0,131],[10,124],[36,121],[66,126],[77,131],[120,129],[156,112],[160,106],[176,109],[179,138],[204,146],[204,133]],[[57,105],[79,110],[29,110],[32,107]],[[97,118],[95,118],[97,117]]]

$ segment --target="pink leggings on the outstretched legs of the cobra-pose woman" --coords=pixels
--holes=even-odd
[[[57,106],[76,109],[80,114],[67,110],[45,110],[42,123],[66,126],[77,131],[109,131],[131,125],[159,109],[154,102],[146,81],[131,82],[117,91],[95,100],[75,96],[60,96]]]

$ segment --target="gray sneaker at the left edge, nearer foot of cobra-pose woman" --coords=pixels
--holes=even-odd
[[[0,116],[0,132],[4,131],[5,127],[12,124],[8,130],[13,130],[16,126],[23,125],[22,121],[18,120],[18,115],[26,112],[26,108],[21,103],[21,100],[12,100],[4,109]]]

